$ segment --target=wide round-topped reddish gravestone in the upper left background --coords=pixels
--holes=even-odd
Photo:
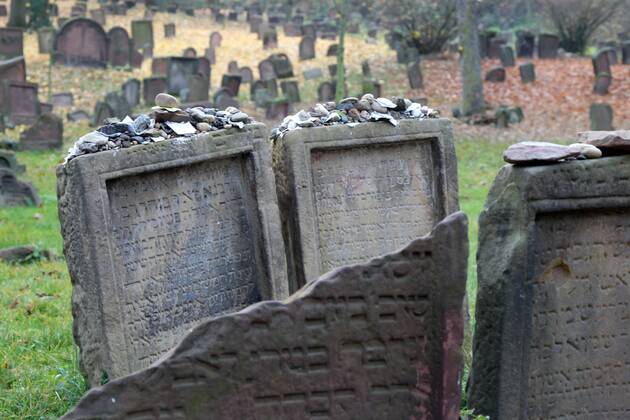
[[[93,20],[72,19],[57,33],[54,51],[56,63],[78,67],[106,67],[107,34]]]

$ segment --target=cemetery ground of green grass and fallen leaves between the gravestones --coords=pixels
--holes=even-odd
[[[68,3],[64,4],[67,5]],[[67,15],[65,11],[62,13]],[[131,20],[141,18],[138,10],[128,16],[109,18],[106,28],[123,26],[131,29]],[[165,40],[162,26],[177,23],[177,37]],[[317,85],[321,80],[305,81],[302,72],[319,67],[327,73],[333,57],[326,50],[333,41],[318,40],[317,58],[298,60],[300,38],[279,34],[279,48],[263,51],[255,34],[249,33],[244,23],[228,22],[213,28],[209,17],[158,14],[154,19],[155,56],[181,55],[187,47],[203,54],[209,33],[220,30],[223,44],[217,50],[217,63],[212,68],[211,87],[220,85],[228,62],[249,66],[257,73],[257,63],[273,52],[286,52],[294,64],[294,72],[301,85],[304,106],[313,104]],[[378,44],[366,44],[365,34],[349,35],[347,68],[350,93],[361,84],[361,62],[368,59],[373,75],[383,81],[384,96],[404,95],[426,97],[430,106],[450,117],[450,109],[459,100],[460,82],[457,62],[449,56],[423,60],[425,88],[409,90],[404,66],[396,64],[395,52],[381,38]],[[34,34],[25,37],[25,58],[29,81],[39,83],[40,98],[46,100],[49,78],[52,93],[72,92],[73,108],[91,112],[97,100],[111,90],[118,89],[129,78],[141,79],[150,75],[150,60],[142,69],[73,69],[55,66],[49,73],[48,56],[37,53]],[[470,220],[470,261],[468,295],[470,313],[474,314],[476,295],[476,240],[477,219],[488,189],[502,166],[502,152],[507,145],[520,139],[561,140],[572,142],[577,131],[588,129],[588,107],[593,102],[606,102],[615,111],[616,128],[630,128],[630,69],[614,66],[614,82],[609,95],[600,97],[592,92],[592,69],[588,58],[563,60],[534,60],[537,81],[522,85],[518,67],[507,69],[505,83],[486,83],[486,99],[494,106],[521,106],[525,121],[509,130],[494,127],[471,127],[454,122],[459,169],[459,197],[462,210]],[[520,64],[522,63],[519,60]],[[497,65],[487,61],[484,70]],[[249,99],[249,86],[241,87],[239,101],[242,108],[260,121],[263,112],[257,111]],[[146,110],[143,106],[137,111]],[[296,106],[295,111],[301,109]],[[56,111],[57,112],[57,111]],[[65,115],[64,115],[65,117]],[[27,171],[22,179],[32,182],[42,199],[36,208],[0,209],[0,248],[33,244],[39,250],[51,249],[57,258],[45,260],[35,255],[33,261],[21,264],[0,262],[0,418],[56,418],[71,408],[85,392],[86,385],[78,369],[78,350],[72,338],[70,306],[71,284],[62,257],[62,240],[57,217],[55,168],[63,160],[65,151],[82,134],[91,130],[87,123],[68,123],[64,127],[64,147],[55,152],[18,152],[20,163]],[[20,129],[9,130],[7,138],[16,139]],[[280,245],[279,245],[280,246]],[[472,321],[474,322],[474,320]],[[470,337],[465,343],[466,367],[470,365]]]

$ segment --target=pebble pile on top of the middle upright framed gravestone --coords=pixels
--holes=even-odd
[[[358,124],[368,121],[387,121],[398,125],[400,119],[437,118],[438,112],[405,98],[375,98],[365,94],[359,98],[346,98],[339,102],[324,102],[286,117],[271,132],[272,139],[281,138],[287,131],[301,128]]]

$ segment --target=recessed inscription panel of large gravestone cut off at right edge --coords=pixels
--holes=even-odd
[[[527,418],[630,416],[628,216],[537,219]]]

